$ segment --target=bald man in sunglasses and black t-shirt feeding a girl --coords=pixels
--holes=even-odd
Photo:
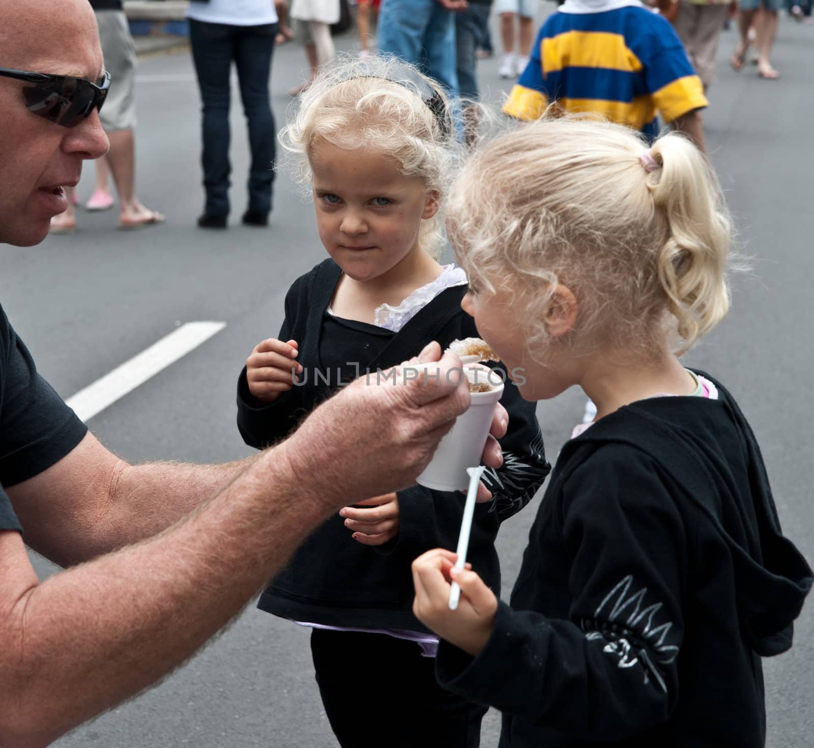
[[[107,149],[107,81],[86,0],[0,0],[0,19],[0,243],[30,246]],[[439,358],[431,343],[421,361]],[[46,746],[145,689],[330,514],[413,485],[468,406],[459,365],[352,383],[245,461],[130,466],[37,374],[0,308],[0,746]],[[501,463],[493,438],[484,461]],[[24,541],[70,568],[41,583]]]

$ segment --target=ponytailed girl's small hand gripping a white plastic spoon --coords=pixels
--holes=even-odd
[[[413,562],[415,617],[438,636],[476,657],[484,648],[497,615],[497,597],[481,578],[471,571],[454,568],[457,554],[436,548]],[[461,585],[457,610],[449,610],[452,582]]]

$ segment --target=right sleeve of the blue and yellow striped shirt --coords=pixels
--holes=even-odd
[[[657,28],[658,41],[653,42],[646,62],[647,90],[661,116],[672,122],[694,109],[707,107],[708,102],[701,79],[675,30],[666,21]]]

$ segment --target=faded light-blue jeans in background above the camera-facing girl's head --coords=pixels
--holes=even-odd
[[[383,0],[379,52],[418,65],[457,96],[455,14],[437,0]]]

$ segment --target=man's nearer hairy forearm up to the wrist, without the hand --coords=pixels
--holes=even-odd
[[[43,584],[0,575],[0,745],[47,745],[173,670],[330,510],[283,444],[160,536]],[[0,536],[24,558],[19,536]]]

